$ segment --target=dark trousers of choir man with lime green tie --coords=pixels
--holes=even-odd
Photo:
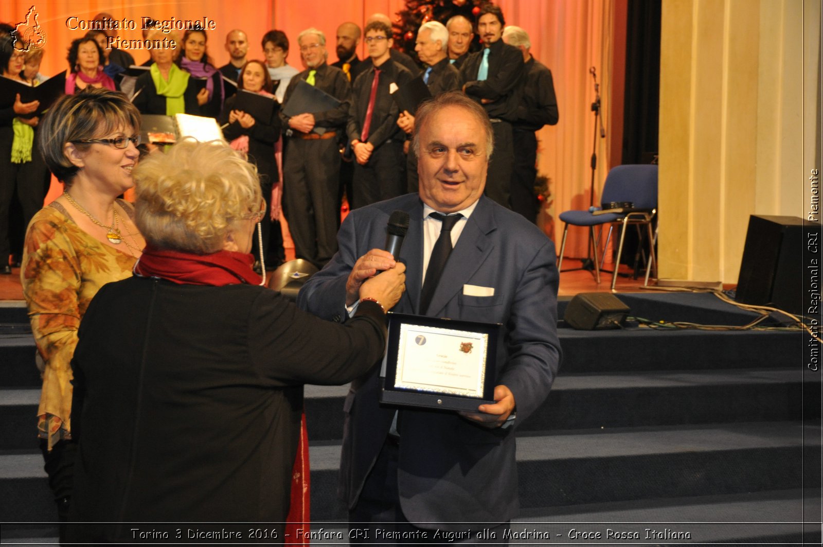
[[[323,268],[337,252],[340,151],[336,138],[290,138],[283,161],[283,213],[295,258]]]

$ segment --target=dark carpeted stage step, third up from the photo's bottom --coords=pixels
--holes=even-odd
[[[807,397],[803,398],[804,376]],[[818,389],[812,389],[818,381]],[[542,406],[520,432],[629,428],[677,423],[802,419],[802,404],[819,401],[820,376],[790,369],[703,372],[560,373]],[[312,442],[342,438],[348,386],[306,386]],[[816,395],[816,396],[815,396]],[[0,450],[37,448],[40,389],[0,390]],[[819,402],[818,402],[819,407]]]

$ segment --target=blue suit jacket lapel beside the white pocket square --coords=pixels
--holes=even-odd
[[[421,213],[422,214],[422,213]],[[468,217],[466,227],[454,246],[440,283],[431,297],[430,316],[442,316],[444,307],[463,291],[463,285],[477,272],[494,244],[488,234],[495,230],[494,214],[488,200],[481,197],[477,208]],[[418,291],[419,292],[419,291]],[[419,295],[418,295],[419,301]]]

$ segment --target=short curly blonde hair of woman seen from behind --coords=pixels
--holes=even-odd
[[[257,168],[222,141],[184,138],[141,160],[134,182],[135,222],[146,241],[197,255],[221,250],[263,199]]]

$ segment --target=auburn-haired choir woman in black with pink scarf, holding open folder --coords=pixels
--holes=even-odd
[[[240,71],[238,89],[267,97],[272,103],[277,101],[272,95],[272,78],[269,77],[263,61],[251,60],[245,63]],[[280,181],[274,156],[274,144],[280,138],[280,116],[277,115],[278,109],[274,104],[267,119],[238,110],[236,104],[240,96],[242,94],[238,92],[226,100],[226,108],[223,109],[218,123],[223,126],[223,136],[230,142],[230,147],[248,154],[249,161],[253,161],[258,168],[260,188],[263,190],[263,199],[266,200],[266,210],[270,212],[260,222],[263,231],[263,262],[267,268],[275,269],[286,258],[280,222],[272,222],[279,217],[280,211],[279,187],[275,193],[277,201],[272,207],[272,187]],[[269,245],[272,239],[274,249]]]

